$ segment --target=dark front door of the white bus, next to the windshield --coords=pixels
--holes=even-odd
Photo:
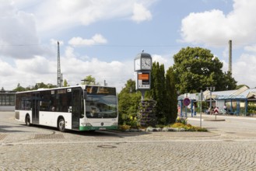
[[[82,112],[82,89],[72,89],[72,129],[79,130],[79,119]]]

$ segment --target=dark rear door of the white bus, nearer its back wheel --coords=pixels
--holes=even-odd
[[[39,92],[35,92],[32,95],[32,123],[39,124]]]

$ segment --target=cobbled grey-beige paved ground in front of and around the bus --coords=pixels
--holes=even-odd
[[[202,125],[209,132],[61,133],[0,113],[0,169],[256,170],[255,120]]]

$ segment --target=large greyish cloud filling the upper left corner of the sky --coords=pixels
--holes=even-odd
[[[2,1],[0,16],[0,58],[33,58],[48,53],[40,45],[33,14],[16,9],[12,1]]]

